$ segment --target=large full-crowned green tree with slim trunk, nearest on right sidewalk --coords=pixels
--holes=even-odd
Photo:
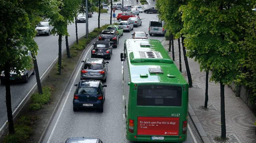
[[[221,137],[226,137],[224,85],[231,83],[239,70],[244,50],[244,23],[249,18],[252,0],[190,0],[182,6],[182,32],[188,56],[200,63],[200,70],[212,71],[211,79],[221,86]]]

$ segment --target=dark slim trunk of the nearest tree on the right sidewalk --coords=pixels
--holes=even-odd
[[[226,138],[224,84],[221,82],[221,138]]]

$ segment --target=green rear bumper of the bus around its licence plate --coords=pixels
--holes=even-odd
[[[164,140],[152,140],[151,136],[164,136]],[[187,140],[187,135],[132,135],[128,132],[126,138],[131,141],[141,142],[183,142]]]

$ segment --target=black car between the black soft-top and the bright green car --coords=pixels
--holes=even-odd
[[[113,47],[117,48],[119,42],[119,36],[116,30],[102,30],[98,40],[109,41]]]

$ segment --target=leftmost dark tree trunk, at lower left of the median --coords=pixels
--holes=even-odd
[[[12,110],[11,110],[10,65],[8,62],[5,63],[4,72],[5,72],[5,94],[6,94],[5,103],[6,103],[6,109],[7,109],[9,134],[14,134],[14,125],[13,125]]]

